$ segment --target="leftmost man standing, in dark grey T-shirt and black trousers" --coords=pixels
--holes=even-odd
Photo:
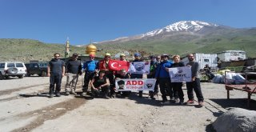
[[[47,66],[47,76],[50,77],[49,98],[54,97],[54,85],[56,84],[55,94],[60,97],[62,77],[65,76],[65,63],[59,59],[60,54],[55,53],[54,58],[50,60]]]

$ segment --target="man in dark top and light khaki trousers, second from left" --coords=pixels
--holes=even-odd
[[[66,62],[66,95],[76,94],[75,88],[78,82],[78,75],[82,74],[82,65],[78,60],[78,54],[74,53],[72,58]]]

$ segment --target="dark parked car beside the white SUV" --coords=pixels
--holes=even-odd
[[[27,76],[38,74],[38,76],[45,77],[47,74],[48,62],[30,62],[26,63]]]

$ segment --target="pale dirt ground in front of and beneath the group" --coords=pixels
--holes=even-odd
[[[64,77],[62,92],[65,83]],[[205,106],[199,108],[197,102],[183,106],[162,104],[161,94],[151,100],[147,91],[143,98],[138,98],[137,92],[127,98],[48,98],[48,77],[0,80],[0,131],[214,131],[210,123],[230,107],[246,108],[245,92],[233,90],[227,100],[223,84],[201,84]],[[79,77],[78,94],[81,88]],[[186,87],[183,91],[187,100]],[[250,110],[254,109],[252,102]]]

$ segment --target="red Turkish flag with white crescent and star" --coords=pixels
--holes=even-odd
[[[118,61],[118,60],[112,60],[109,61],[109,68],[110,70],[126,70],[128,71],[130,67],[130,62],[126,61]]]

